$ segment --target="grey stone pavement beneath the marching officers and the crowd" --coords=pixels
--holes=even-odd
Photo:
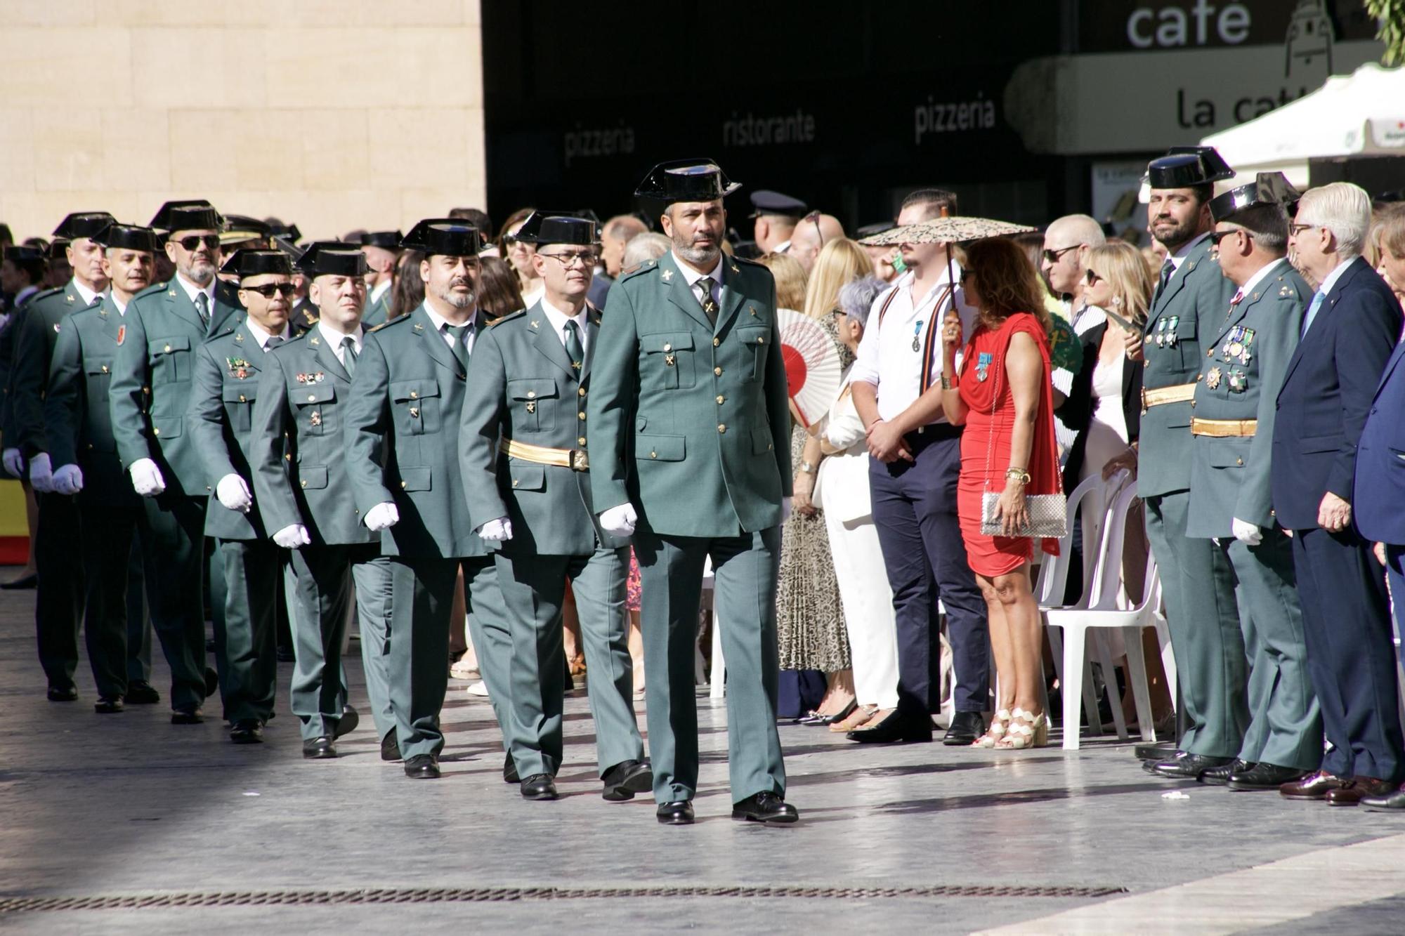
[[[565,798],[527,802],[465,683],[444,779],[410,781],[368,727],[303,762],[287,696],[242,748],[164,704],[94,714],[86,662],[80,700],[49,703],[32,604],[0,592],[4,932],[1405,929],[1405,817],[1177,787],[1124,745],[873,749],[785,725],[801,824],[760,828],[729,818],[725,707],[704,694],[700,821],[663,828],[648,797],[600,800],[583,694]],[[350,677],[364,713],[355,661]],[[164,680],[159,665],[163,697]]]

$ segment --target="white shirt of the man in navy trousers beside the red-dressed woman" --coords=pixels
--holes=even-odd
[[[927,386],[941,385],[943,343],[941,322],[946,313],[955,305],[961,316],[961,333],[969,339],[975,330],[978,312],[967,304],[965,291],[960,287],[947,292],[951,282],[961,281],[961,267],[946,264],[941,277],[927,290],[923,297],[912,295],[912,285],[916,280],[913,273],[905,273],[891,290],[885,290],[874,299],[868,312],[868,327],[858,342],[858,357],[853,365],[853,382],[873,384],[878,388],[878,417],[891,420],[899,416],[922,396],[923,357],[929,329],[934,332],[932,360],[926,363]],[[888,311],[880,320],[878,313],[892,295]],[[941,299],[940,308],[937,299]],[[917,350],[912,350],[913,339],[917,340]],[[960,364],[961,353],[957,353]],[[937,416],[934,422],[944,423],[946,416]]]

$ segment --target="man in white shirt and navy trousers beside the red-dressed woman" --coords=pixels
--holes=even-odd
[[[955,195],[936,188],[903,200],[899,226],[955,214]],[[957,521],[961,430],[941,413],[941,319],[955,308],[971,334],[976,311],[960,290],[960,268],[941,243],[903,243],[908,266],[874,302],[853,368],[854,406],[868,431],[874,523],[898,617],[898,708],[851,741],[932,741],[941,708],[937,602],[947,610],[955,714],[944,743],[971,743],[989,707],[985,600],[967,564]]]

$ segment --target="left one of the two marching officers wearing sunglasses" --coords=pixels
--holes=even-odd
[[[219,212],[208,201],[169,201],[152,228],[169,230],[176,274],[126,308],[111,409],[117,454],[142,496],[138,535],[146,559],[152,627],[171,668],[171,724],[204,721],[215,684],[205,675],[205,503],[211,485],[187,429],[195,349],[239,309],[215,277]],[[219,613],[219,611],[216,611]]]

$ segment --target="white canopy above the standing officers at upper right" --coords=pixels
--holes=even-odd
[[[1316,91],[1200,141],[1234,166],[1232,186],[1281,171],[1308,184],[1308,160],[1331,156],[1405,156],[1405,69],[1363,65]]]

